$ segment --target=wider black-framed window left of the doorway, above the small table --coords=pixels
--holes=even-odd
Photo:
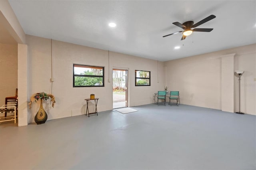
[[[104,67],[74,64],[73,87],[104,87]]]

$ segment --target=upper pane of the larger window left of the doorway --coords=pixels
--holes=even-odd
[[[102,67],[74,65],[74,74],[78,75],[103,75]]]

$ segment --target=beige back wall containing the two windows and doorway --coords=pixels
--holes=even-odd
[[[44,102],[48,120],[81,115],[85,112],[84,99],[94,93],[99,98],[98,111],[112,109],[112,68],[128,69],[129,106],[153,103],[154,93],[163,89],[163,62],[109,52],[35,36],[26,36],[28,45],[28,97],[34,93],[51,93],[56,97],[54,109]],[[53,46],[53,77],[52,77]],[[73,87],[73,63],[105,67],[105,87]],[[134,70],[151,71],[150,87],[135,87]],[[158,76],[157,76],[158,75]],[[158,77],[158,78],[157,78]],[[89,103],[90,112],[94,107]],[[28,109],[28,123],[34,122],[39,102]]]

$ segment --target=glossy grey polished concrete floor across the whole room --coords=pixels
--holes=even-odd
[[[255,170],[256,116],[188,105],[0,124],[0,169]]]

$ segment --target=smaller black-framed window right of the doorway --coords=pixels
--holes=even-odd
[[[135,70],[135,86],[150,86],[150,71]]]

